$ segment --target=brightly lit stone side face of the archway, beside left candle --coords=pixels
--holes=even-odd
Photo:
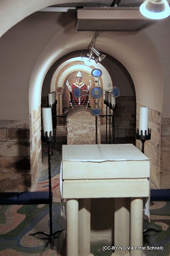
[[[42,165],[41,106],[30,114],[30,163],[32,190]]]

